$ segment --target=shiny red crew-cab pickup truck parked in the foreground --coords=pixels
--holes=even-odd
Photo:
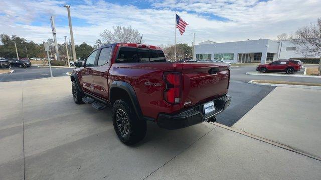
[[[215,121],[231,101],[227,63],[167,62],[152,45],[104,45],[75,66],[74,101],[112,107],[114,129],[127,145],[145,137],[147,120],[166,129]]]

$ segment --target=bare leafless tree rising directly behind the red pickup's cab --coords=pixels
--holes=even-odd
[[[138,43],[141,38],[141,34],[138,30],[131,27],[116,26],[112,27],[113,32],[105,29],[104,32],[100,34],[100,37],[108,43]]]

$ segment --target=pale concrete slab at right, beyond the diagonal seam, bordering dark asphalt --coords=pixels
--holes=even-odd
[[[321,90],[276,87],[232,127],[321,158]]]

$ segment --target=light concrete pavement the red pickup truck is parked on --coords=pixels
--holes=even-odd
[[[122,144],[109,109],[73,102],[69,77],[0,86],[0,179],[319,179],[321,162],[207,122],[147,125]]]

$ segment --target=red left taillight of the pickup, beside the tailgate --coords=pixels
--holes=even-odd
[[[181,101],[181,73],[165,72],[163,80],[166,82],[164,90],[164,99],[172,104]]]

